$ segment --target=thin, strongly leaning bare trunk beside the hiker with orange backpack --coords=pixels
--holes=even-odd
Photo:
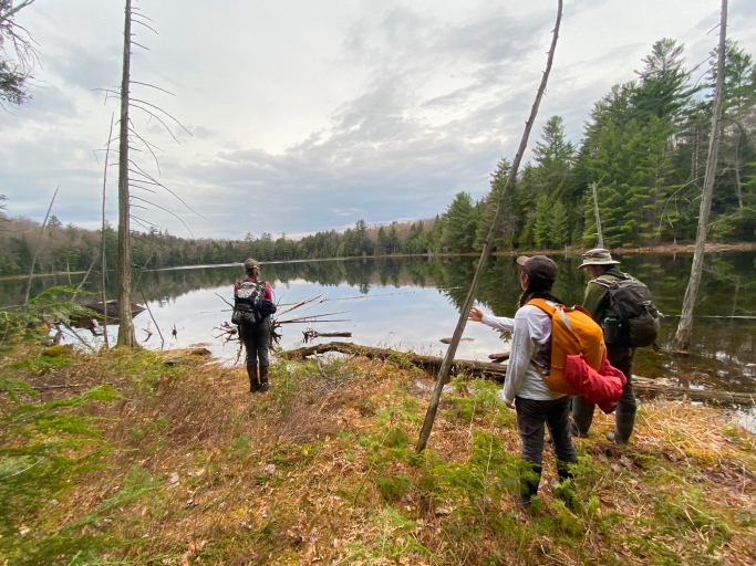
[[[417,447],[415,448],[417,452],[422,452],[425,449],[425,446],[428,441],[428,437],[431,436],[433,421],[435,420],[436,411],[438,410],[441,391],[444,388],[444,381],[448,377],[449,369],[452,368],[452,364],[454,363],[454,356],[457,353],[459,338],[462,338],[462,334],[465,332],[465,326],[467,325],[467,315],[469,313],[470,307],[473,306],[473,302],[475,301],[475,293],[478,290],[478,283],[480,282],[480,274],[483,273],[483,268],[485,266],[486,260],[488,259],[488,254],[490,253],[490,250],[494,247],[496,227],[498,226],[499,220],[501,219],[501,211],[505,208],[505,199],[507,196],[507,191],[517,178],[517,170],[519,169],[520,160],[522,159],[525,149],[528,147],[528,137],[530,136],[530,130],[532,129],[532,125],[536,122],[536,116],[538,115],[538,106],[541,103],[541,98],[543,97],[543,91],[546,90],[546,84],[549,80],[549,73],[551,72],[551,63],[553,62],[553,53],[557,50],[557,39],[559,38],[559,24],[561,23],[562,18],[562,0],[558,1],[559,6],[557,9],[557,24],[553,28],[553,38],[551,40],[551,49],[549,50],[549,56],[546,63],[546,71],[543,72],[543,76],[541,77],[541,84],[538,87],[538,93],[536,94],[536,102],[534,102],[532,109],[530,111],[530,117],[528,118],[528,122],[526,122],[525,124],[525,133],[522,134],[520,146],[517,149],[517,155],[515,156],[515,159],[511,164],[511,168],[507,174],[507,182],[501,189],[501,196],[499,197],[499,202],[496,208],[496,214],[494,216],[494,221],[491,222],[490,228],[488,229],[488,238],[486,239],[486,243],[483,247],[483,252],[480,253],[480,259],[478,260],[478,266],[475,270],[475,275],[473,276],[473,282],[470,283],[470,289],[467,292],[467,298],[465,298],[465,303],[462,305],[462,311],[459,312],[459,319],[457,321],[457,327],[455,328],[454,336],[452,337],[452,344],[449,344],[449,347],[446,350],[446,356],[444,356],[444,361],[442,363],[441,369],[438,370],[438,377],[436,378],[436,384],[433,387],[433,394],[431,395],[428,410],[425,413],[423,429],[421,430],[420,439],[417,440]]]

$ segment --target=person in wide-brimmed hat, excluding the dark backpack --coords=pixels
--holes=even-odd
[[[615,269],[620,262],[612,259],[612,254],[604,249],[597,248],[586,252],[582,264],[578,269],[584,269],[591,280],[586,287],[583,308],[588,311],[593,321],[600,326],[603,324],[609,308],[608,285],[629,275]],[[605,333],[604,333],[605,335]],[[628,379],[622,388],[622,396],[617,401],[614,412],[614,430],[605,433],[607,439],[618,444],[626,444],[635,424],[635,411],[638,401],[633,392],[632,370],[635,348],[613,347],[607,345],[609,363],[624,374]],[[593,405],[583,402],[579,397],[572,398],[572,434],[587,437],[593,421]]]

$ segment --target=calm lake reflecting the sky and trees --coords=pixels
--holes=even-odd
[[[580,304],[588,281],[577,269],[580,256],[557,255],[552,259],[559,268],[555,294],[568,305]],[[669,349],[679,322],[692,254],[632,254],[623,255],[621,260],[621,269],[642,280],[654,294],[665,315],[660,346],[662,350]],[[346,311],[329,316],[346,322],[314,324],[313,328],[352,332],[351,340],[367,346],[391,346],[441,356],[446,346],[439,340],[451,337],[454,332],[476,262],[472,256],[444,256],[263,263],[261,276],[271,283],[276,298],[281,303],[296,303],[313,293],[328,294],[320,305],[307,312],[305,307],[299,308],[283,318]],[[107,296],[114,298],[115,274],[108,275]],[[214,328],[230,319],[228,306],[217,294],[232,302],[234,283],[244,276],[241,265],[145,271],[134,276],[138,281],[134,302],[142,304],[144,293],[165,338],[166,349],[204,344],[218,357],[231,361],[236,358],[236,345],[214,339],[214,335],[219,334]],[[71,281],[77,283],[81,279],[82,275],[72,276]],[[68,283],[68,276],[37,277],[32,295]],[[99,282],[87,283],[86,289],[100,292]],[[0,305],[20,304],[24,292],[25,281],[0,281]],[[514,316],[519,294],[514,259],[491,258],[478,291],[478,306],[499,316]],[[160,338],[147,312],[136,316],[134,324],[139,343],[148,348],[160,347]],[[284,325],[281,346],[300,346],[307,327],[307,324]],[[174,328],[176,337],[172,336]],[[148,337],[147,331],[152,336]],[[675,357],[645,348],[639,353],[635,373],[687,387],[754,391],[755,331],[756,252],[708,254],[695,312],[691,356]],[[89,335],[86,331],[81,332]],[[110,332],[114,338],[115,326],[110,327]],[[481,360],[487,360],[488,354],[500,352],[508,338],[478,323],[468,323],[465,337],[473,342],[460,343],[457,357]]]

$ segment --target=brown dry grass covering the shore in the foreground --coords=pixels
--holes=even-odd
[[[22,346],[3,365],[34,357],[34,348]],[[428,394],[417,387],[427,379],[417,370],[366,358],[279,361],[271,390],[252,396],[244,368],[205,361],[190,357],[169,368],[156,353],[112,350],[79,354],[41,373],[14,370],[33,386],[80,386],[41,389],[43,400],[102,382],[124,395],[87,406],[113,450],[105,468],[60,494],[51,524],[95,509],[137,467],[159,488],[116,510],[111,523],[85,527],[133,541],[103,560],[542,565],[693,564],[705,557],[756,564],[754,441],[726,411],[643,403],[628,449],[602,440],[613,422],[597,413],[591,437],[578,447],[589,465],[579,494],[587,506],[598,497],[598,509],[572,515],[555,502],[547,448],[542,505],[528,515],[506,490],[489,501],[444,486],[455,467],[469,461],[477,432],[518,453],[514,416],[503,406],[476,405],[468,416],[460,409],[464,392],[445,395],[432,454],[418,464],[410,454]],[[406,434],[398,446],[391,444],[401,440],[395,430]],[[398,474],[411,484],[386,501],[379,479]],[[427,488],[428,479],[442,486]],[[565,521],[580,528],[570,533]]]

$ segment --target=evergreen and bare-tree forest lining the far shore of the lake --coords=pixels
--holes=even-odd
[[[551,117],[506,196],[497,251],[590,247],[597,242],[591,186],[604,241],[611,247],[687,242],[695,238],[711,134],[716,51],[694,81],[674,40],[656,42],[635,78],[598,101],[579,144],[568,142],[560,116]],[[756,64],[727,42],[724,119],[710,234],[716,241],[756,241]],[[300,240],[269,233],[244,240],[190,240],[153,228],[133,232],[138,266],[169,268],[364,255],[479,251],[509,169],[503,158],[480,200],[459,192],[435,219],[369,227]],[[40,224],[9,218],[0,196],[0,275],[28,273]],[[38,272],[85,271],[99,258],[100,231],[51,217],[39,247]],[[105,231],[114,265],[116,232]],[[111,260],[112,259],[112,260]]]

